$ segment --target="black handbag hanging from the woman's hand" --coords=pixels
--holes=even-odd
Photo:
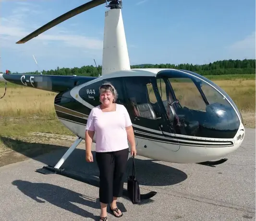
[[[134,155],[133,158],[133,167],[132,167],[132,175],[128,175],[127,180],[127,191],[128,196],[131,199],[133,204],[139,204],[141,202],[140,198],[140,187],[139,182],[136,177],[135,163],[134,163]]]

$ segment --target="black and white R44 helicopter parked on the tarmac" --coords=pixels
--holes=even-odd
[[[0,80],[5,82],[58,93],[54,99],[56,115],[77,140],[55,166],[44,169],[56,172],[85,139],[89,113],[100,104],[99,87],[105,82],[116,88],[116,103],[124,105],[129,112],[137,155],[171,163],[207,166],[224,163],[226,158],[217,159],[234,152],[244,140],[243,118],[236,104],[218,85],[195,72],[171,68],[131,69],[122,0],[91,0],[16,44],[24,44],[55,25],[104,3],[107,10],[100,76],[0,74]]]

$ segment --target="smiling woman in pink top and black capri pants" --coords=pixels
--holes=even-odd
[[[100,220],[107,220],[107,205],[116,217],[122,212],[116,205],[122,196],[122,177],[128,160],[129,143],[131,155],[136,155],[134,131],[128,111],[116,104],[117,91],[110,83],[99,88],[101,104],[93,108],[85,129],[86,161],[93,162],[91,145],[96,133],[96,161],[99,168]]]

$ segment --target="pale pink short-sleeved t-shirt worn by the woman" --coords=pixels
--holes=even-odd
[[[132,125],[128,111],[116,104],[116,111],[103,112],[99,106],[93,108],[85,130],[96,133],[96,152],[119,151],[128,148],[125,127]]]

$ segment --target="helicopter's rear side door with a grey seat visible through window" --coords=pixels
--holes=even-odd
[[[179,150],[179,142],[174,135],[162,102],[155,91],[154,77],[125,77],[126,108],[134,126],[135,137],[170,144],[168,148]],[[157,99],[158,97],[158,99]]]

